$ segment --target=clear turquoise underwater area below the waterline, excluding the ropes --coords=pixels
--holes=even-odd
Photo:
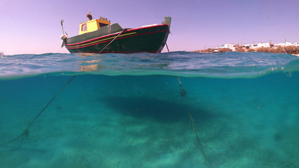
[[[299,167],[294,76],[181,78],[186,102],[174,76],[76,76],[0,167],[207,167],[188,109],[211,167]],[[1,143],[69,78],[0,81]]]

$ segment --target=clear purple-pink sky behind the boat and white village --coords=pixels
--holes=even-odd
[[[76,36],[88,12],[123,28],[161,24],[170,16],[171,51],[299,42],[298,6],[298,0],[0,0],[0,52],[69,53],[60,47],[60,21],[69,37]]]

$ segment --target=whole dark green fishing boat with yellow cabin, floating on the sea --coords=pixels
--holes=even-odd
[[[166,44],[172,20],[165,17],[161,25],[123,29],[118,23],[111,25],[110,20],[106,18],[92,20],[90,13],[87,16],[89,20],[79,25],[78,36],[60,36],[61,46],[65,46],[71,53],[161,52]],[[63,25],[62,31],[65,32]]]

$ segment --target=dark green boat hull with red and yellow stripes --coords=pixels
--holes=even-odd
[[[66,38],[65,47],[71,53],[161,52],[167,41],[169,27],[170,24],[165,23],[137,29],[114,28],[112,31],[118,32],[104,36],[97,36],[96,32],[82,34]]]

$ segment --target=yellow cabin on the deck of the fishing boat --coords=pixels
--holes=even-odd
[[[108,25],[111,25],[110,20],[108,21],[107,18],[102,17],[100,17],[100,19],[81,22],[79,25],[79,35],[96,31],[97,29]]]

